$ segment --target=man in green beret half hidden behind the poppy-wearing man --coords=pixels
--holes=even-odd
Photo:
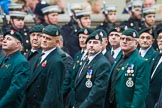
[[[26,58],[29,61],[29,64],[32,66],[35,58],[39,53],[41,53],[41,37],[42,37],[42,30],[43,25],[38,24],[31,27],[29,31],[30,35],[30,43],[31,43],[31,50],[26,54]]]

